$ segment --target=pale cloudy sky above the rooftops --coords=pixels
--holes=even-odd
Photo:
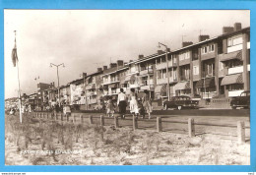
[[[38,83],[57,85],[56,68],[50,63],[64,63],[59,67],[62,86],[110,62],[157,53],[159,42],[178,49],[182,35],[184,41],[196,43],[200,33],[214,37],[236,22],[250,27],[250,11],[4,10],[5,98],[18,95],[17,67],[11,58],[14,30],[21,93],[31,94]]]

